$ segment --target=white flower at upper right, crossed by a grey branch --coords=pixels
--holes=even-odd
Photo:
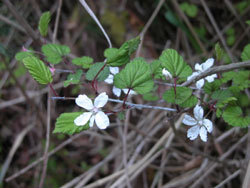
[[[197,72],[193,72],[193,74],[192,74],[191,76],[189,76],[189,77],[187,78],[187,80],[190,80],[190,79],[192,79],[193,77],[198,76],[200,73],[202,73],[202,72],[206,71],[207,69],[209,69],[210,67],[212,67],[213,64],[214,64],[214,59],[213,59],[213,58],[207,59],[207,60],[206,60],[204,63],[202,63],[201,65],[198,64],[198,63],[196,63],[194,69],[195,69]],[[213,82],[215,78],[217,78],[217,74],[212,74],[212,75],[210,75],[210,76],[205,77],[205,79],[206,79],[208,82]],[[197,87],[198,89],[201,89],[201,88],[203,87],[203,85],[204,85],[204,82],[205,82],[204,79],[198,80],[198,81],[196,82],[196,87]]]

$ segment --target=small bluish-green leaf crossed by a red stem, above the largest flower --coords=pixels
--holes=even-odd
[[[86,79],[87,80],[94,80],[97,73],[101,70],[101,68],[105,65],[104,62],[102,63],[95,63],[93,64],[88,72],[86,73]],[[105,66],[104,69],[99,73],[97,80],[103,81],[109,76],[109,68],[108,66]]]

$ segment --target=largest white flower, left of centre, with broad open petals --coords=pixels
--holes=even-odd
[[[108,95],[105,92],[95,98],[94,105],[87,95],[79,95],[75,102],[78,106],[89,111],[84,112],[74,120],[77,126],[83,126],[88,121],[90,127],[93,127],[94,121],[99,129],[106,129],[109,126],[108,116],[100,110],[108,102]]]

